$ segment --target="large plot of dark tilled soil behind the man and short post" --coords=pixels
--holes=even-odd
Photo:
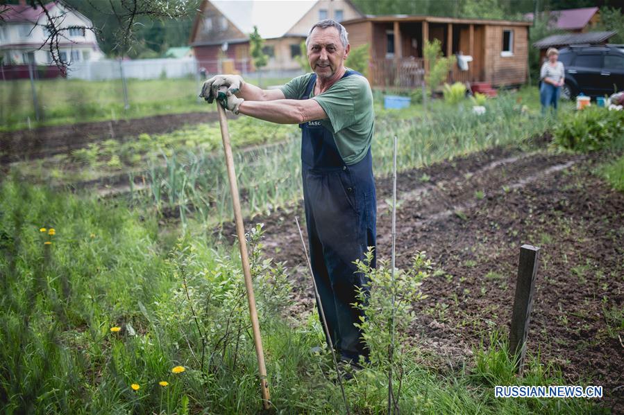
[[[411,328],[439,359],[431,364],[457,367],[493,330],[508,335],[519,247],[529,243],[541,263],[528,350],[570,385],[591,377],[615,402],[624,348],[605,316],[624,307],[624,195],[591,174],[596,158],[499,148],[398,176],[397,265],[420,250],[446,273],[423,283],[429,297]],[[390,180],[377,189],[379,257],[389,259]],[[301,206],[253,222],[265,224],[267,256],[292,270],[298,314],[313,294],[295,214],[304,217]]]

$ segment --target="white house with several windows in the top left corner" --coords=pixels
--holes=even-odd
[[[93,26],[90,19],[62,1],[51,1],[45,8],[51,17],[58,17],[56,27],[61,29],[58,38],[61,60],[71,63],[103,58],[95,34],[87,29]],[[33,8],[26,4],[26,0],[20,0],[19,4],[0,6],[0,12],[0,57],[3,64],[50,64],[52,57],[49,43],[46,44],[49,42],[49,20],[41,6]]]

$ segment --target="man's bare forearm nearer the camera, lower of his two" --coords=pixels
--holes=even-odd
[[[245,98],[242,95],[241,97]],[[299,124],[305,121],[305,111],[300,100],[262,101],[245,98],[244,103],[239,107],[239,114],[278,124]]]

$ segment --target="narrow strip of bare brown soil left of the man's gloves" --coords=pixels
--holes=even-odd
[[[83,148],[88,143],[107,139],[124,139],[138,134],[171,132],[183,125],[217,121],[217,112],[192,112],[134,118],[121,121],[99,121],[38,127],[33,130],[0,132],[0,162],[39,159]]]

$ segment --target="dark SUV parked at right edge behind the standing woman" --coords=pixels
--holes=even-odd
[[[559,61],[566,69],[562,98],[609,96],[624,90],[624,45],[578,45],[562,48]]]

